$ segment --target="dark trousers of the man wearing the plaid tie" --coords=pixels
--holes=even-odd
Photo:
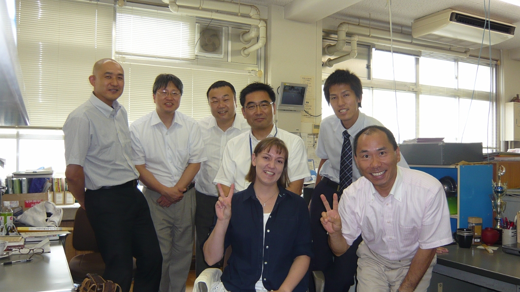
[[[361,235],[359,235],[352,246],[339,257],[332,253],[329,247],[327,231],[323,228],[320,221],[321,213],[325,211],[320,195],[324,194],[329,205],[332,206],[332,195],[334,193],[337,193],[337,190],[323,181],[320,181],[313,191],[309,211],[314,258],[310,261],[310,271],[323,272],[325,275],[325,292],[347,292],[350,286],[354,285],[354,275],[356,274],[358,260],[356,251],[362,239]],[[341,193],[337,195],[339,200]]]

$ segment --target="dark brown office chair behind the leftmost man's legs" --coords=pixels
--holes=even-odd
[[[105,272],[105,262],[99,253],[94,230],[92,230],[88,222],[85,210],[81,207],[77,209],[74,219],[72,246],[77,250],[93,251],[93,253],[77,255],[70,260],[69,269],[74,283],[81,284],[87,273],[103,275]],[[134,273],[135,269],[134,258]]]

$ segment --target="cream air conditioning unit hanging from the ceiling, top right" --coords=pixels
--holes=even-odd
[[[483,42],[483,34],[485,46],[490,45],[488,32],[491,34],[491,45],[496,45],[512,38],[515,28],[513,24],[496,20],[486,23],[484,17],[446,9],[414,20],[412,36],[437,43],[478,49]]]

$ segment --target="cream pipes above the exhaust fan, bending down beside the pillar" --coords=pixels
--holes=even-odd
[[[242,5],[242,4],[237,4],[237,3],[214,1],[214,0],[171,0],[171,1],[162,0],[162,1],[164,3],[167,3],[168,6],[170,7],[170,10],[175,14],[198,16],[198,17],[203,17],[203,18],[232,21],[232,22],[245,23],[245,24],[251,25],[250,31],[242,32],[240,34],[240,41],[244,44],[248,44],[251,42],[251,39],[258,36],[258,42],[249,47],[243,47],[242,50],[240,51],[240,54],[243,57],[248,57],[252,51],[262,48],[267,41],[266,22],[264,20],[260,19],[259,10],[258,10],[258,8],[256,8],[253,5]],[[198,8],[179,6],[178,3],[185,3],[187,5],[191,5],[193,7],[198,7]],[[222,3],[226,3],[226,5],[222,6],[222,7],[218,7],[218,4],[222,4]],[[227,4],[232,4],[232,5],[227,5]],[[250,6],[251,10],[248,10],[248,9],[242,10],[242,6]],[[210,7],[211,7],[211,9],[218,9],[218,10],[223,10],[223,11],[224,11],[223,8],[229,8],[231,10],[236,9],[233,11],[228,11],[228,12],[236,12],[236,13],[239,13],[238,11],[250,11],[249,12],[250,17],[224,14],[222,12],[214,12],[214,11],[209,11],[209,10],[202,10],[202,8],[210,9]]]

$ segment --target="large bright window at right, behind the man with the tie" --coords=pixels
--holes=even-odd
[[[444,138],[482,142],[485,152],[498,150],[496,62],[490,66],[480,60],[477,66],[476,58],[394,53],[394,84],[391,54],[372,52],[373,78],[362,81],[368,87],[360,111],[383,123],[398,142]],[[324,100],[322,112],[323,117],[334,114]]]

